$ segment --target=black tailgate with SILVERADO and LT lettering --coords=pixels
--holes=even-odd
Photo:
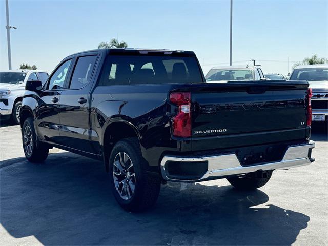
[[[272,80],[193,84],[193,150],[305,139],[308,86]]]

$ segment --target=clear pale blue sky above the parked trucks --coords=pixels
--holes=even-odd
[[[12,67],[51,72],[65,56],[115,37],[133,48],[192,50],[207,72],[229,65],[230,1],[9,0]],[[0,0],[0,69],[8,69]],[[233,65],[258,59],[267,73],[328,57],[328,0],[233,1]]]

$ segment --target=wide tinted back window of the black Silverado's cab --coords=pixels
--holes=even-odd
[[[142,85],[203,82],[195,57],[110,55],[99,85]]]

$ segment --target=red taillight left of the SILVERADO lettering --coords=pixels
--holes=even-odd
[[[177,115],[173,117],[173,135],[191,137],[191,93],[171,93],[170,101],[178,106]]]

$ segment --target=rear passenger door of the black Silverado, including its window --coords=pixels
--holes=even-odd
[[[98,54],[78,56],[60,95],[60,144],[93,153],[89,141],[89,99]]]

